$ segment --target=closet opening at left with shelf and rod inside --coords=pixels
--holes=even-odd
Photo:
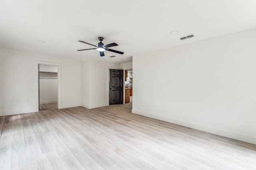
[[[58,109],[58,66],[38,64],[39,111]]]

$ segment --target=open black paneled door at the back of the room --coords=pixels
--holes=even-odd
[[[109,104],[124,103],[123,72],[124,70],[110,69]]]

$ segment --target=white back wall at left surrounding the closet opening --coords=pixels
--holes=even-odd
[[[64,57],[0,48],[0,116],[38,111],[36,61],[61,64],[60,108],[82,104],[82,63]],[[75,76],[74,76],[75,75]]]

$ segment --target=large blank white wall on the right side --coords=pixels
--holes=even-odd
[[[134,56],[132,112],[256,144],[255,45],[250,29]]]

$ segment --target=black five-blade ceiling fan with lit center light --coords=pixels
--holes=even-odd
[[[100,56],[104,56],[104,51],[111,51],[111,52],[114,52],[114,53],[118,53],[118,54],[124,54],[124,52],[121,52],[121,51],[116,51],[116,50],[112,50],[112,49],[108,49],[108,47],[114,47],[114,46],[117,46],[118,44],[117,43],[111,43],[111,44],[107,44],[107,45],[104,45],[104,43],[102,43],[103,41],[103,37],[98,37],[99,39],[99,43],[98,43],[98,46],[96,45],[92,45],[90,43],[86,43],[84,41],[79,41],[79,42],[82,42],[82,43],[86,43],[86,44],[89,44],[89,45],[92,45],[96,48],[97,51],[100,51]],[[83,50],[91,50],[91,49],[83,49]],[[83,51],[83,50],[77,50],[77,51]]]

